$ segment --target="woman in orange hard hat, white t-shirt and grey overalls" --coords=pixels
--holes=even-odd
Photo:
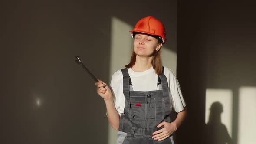
[[[118,130],[118,144],[174,144],[172,134],[187,110],[175,75],[162,66],[164,25],[148,16],[130,32],[131,62],[112,75],[112,90],[98,79],[97,93],[105,100],[109,123]],[[172,109],[177,112],[174,121]]]

